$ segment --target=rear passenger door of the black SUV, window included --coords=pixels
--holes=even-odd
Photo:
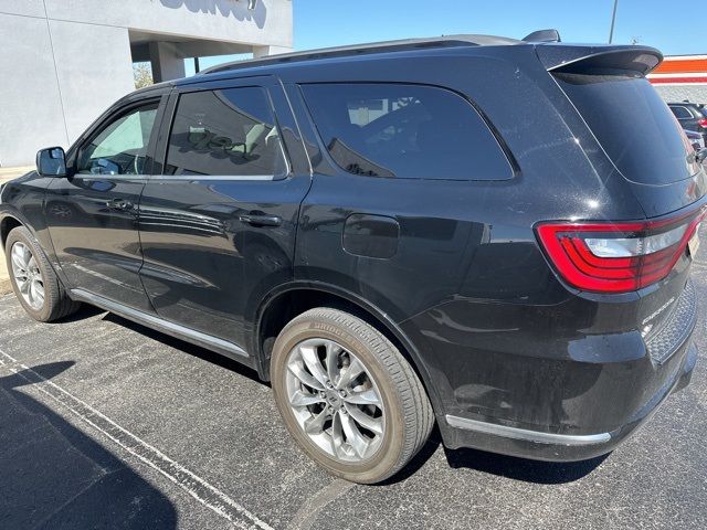
[[[244,312],[293,277],[310,183],[295,130],[274,77],[172,94],[156,155],[161,174],[140,203],[140,276],[162,318],[244,348]]]

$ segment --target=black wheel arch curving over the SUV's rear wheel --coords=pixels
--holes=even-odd
[[[440,398],[428,372],[426,364],[402,329],[380,308],[365,298],[340,287],[319,282],[293,282],[273,289],[264,297],[253,317],[249,351],[256,357],[261,378],[270,381],[270,358],[275,338],[297,315],[315,307],[341,309],[365,320],[383,333],[410,362],[432,402],[441,411]]]

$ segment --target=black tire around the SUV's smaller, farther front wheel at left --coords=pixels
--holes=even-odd
[[[44,285],[44,303],[40,308],[33,308],[24,299],[20,293],[20,288],[18,287],[14,274],[12,274],[12,247],[18,242],[23,243],[30,250],[42,276],[42,283]],[[8,264],[8,272],[10,273],[12,289],[27,314],[34,320],[39,320],[40,322],[52,322],[67,317],[81,307],[81,303],[74,301],[68,297],[64,286],[56,276],[54,268],[49,263],[44,251],[42,251],[30,231],[24,226],[18,226],[10,231],[4,245],[4,255]]]

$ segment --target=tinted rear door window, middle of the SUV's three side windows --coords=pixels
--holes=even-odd
[[[165,172],[282,174],[279,137],[264,89],[229,88],[180,96]]]

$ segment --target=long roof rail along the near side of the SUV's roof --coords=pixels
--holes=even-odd
[[[387,53],[421,47],[454,47],[454,46],[500,46],[518,44],[521,41],[493,35],[443,35],[431,39],[407,39],[401,41],[373,42],[370,44],[355,44],[349,46],[325,47],[321,50],[308,50],[305,52],[285,53],[268,57],[233,61],[218,64],[202,70],[199,74],[213,74],[231,70],[250,68],[253,66],[266,66],[273,64],[286,64],[291,62],[308,61],[313,59],[355,56],[370,53]]]

